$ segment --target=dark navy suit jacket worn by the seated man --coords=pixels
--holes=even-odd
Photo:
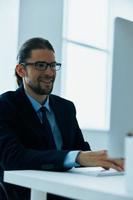
[[[60,129],[63,148],[51,146],[23,87],[0,96],[0,169],[65,170],[63,166],[71,150],[90,150],[76,120],[72,102],[50,95],[50,105]]]

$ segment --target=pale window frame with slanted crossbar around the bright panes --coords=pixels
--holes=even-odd
[[[108,1],[108,0],[107,0]],[[109,22],[109,1],[108,1],[108,22]],[[63,41],[63,48],[62,48],[62,52],[63,52],[63,55],[62,55],[62,64],[63,64],[63,69],[62,69],[62,74],[61,74],[61,95],[64,96],[65,92],[65,88],[66,88],[66,67],[67,67],[67,60],[66,60],[66,46],[68,43],[71,43],[71,44],[74,44],[74,45],[78,45],[78,46],[81,46],[81,47],[84,47],[84,48],[89,48],[89,49],[93,49],[93,50],[96,50],[96,51],[99,51],[99,52],[103,52],[106,54],[107,56],[107,76],[106,76],[106,79],[107,79],[107,85],[106,85],[106,108],[105,108],[105,115],[106,115],[106,119],[105,119],[105,126],[104,128],[87,128],[87,130],[100,130],[100,131],[108,131],[109,128],[110,128],[110,91],[111,91],[111,78],[110,78],[110,59],[109,59],[109,41],[108,41],[108,45],[107,45],[107,48],[101,48],[101,47],[98,47],[97,45],[90,45],[90,44],[85,44],[85,43],[82,43],[82,42],[79,42],[79,41],[76,41],[76,40],[71,40],[71,39],[68,39],[67,38],[67,10],[68,10],[68,1],[64,1],[64,17],[63,17],[63,37],[62,37],[62,41]],[[109,23],[107,24],[107,37],[108,37],[108,40],[109,40]],[[84,129],[82,126],[81,126],[82,129]]]

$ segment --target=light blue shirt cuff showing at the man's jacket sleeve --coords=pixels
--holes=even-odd
[[[70,151],[64,160],[64,167],[71,168],[80,166],[78,163],[76,163],[76,158],[79,152],[80,151]]]

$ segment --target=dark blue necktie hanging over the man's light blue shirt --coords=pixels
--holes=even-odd
[[[56,148],[53,133],[51,130],[51,126],[49,124],[49,121],[48,121],[48,118],[46,115],[47,108],[42,106],[40,108],[40,111],[42,113],[42,126],[43,126],[45,134],[47,134],[46,137],[48,139],[48,142],[49,142],[51,148]]]

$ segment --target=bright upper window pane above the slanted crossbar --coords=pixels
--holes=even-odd
[[[65,37],[107,48],[107,0],[67,0]]]

